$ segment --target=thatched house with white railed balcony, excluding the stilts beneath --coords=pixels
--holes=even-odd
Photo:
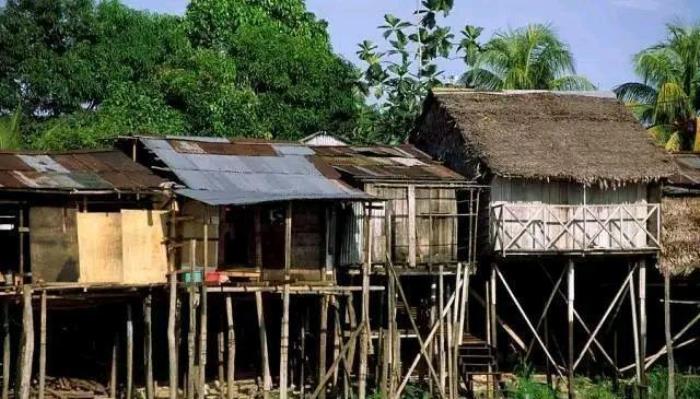
[[[437,91],[411,141],[490,185],[504,255],[658,248],[654,204],[672,161],[614,98]]]

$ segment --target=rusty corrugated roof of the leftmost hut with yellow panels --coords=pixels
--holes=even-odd
[[[116,150],[0,154],[0,190],[140,191],[163,182]]]

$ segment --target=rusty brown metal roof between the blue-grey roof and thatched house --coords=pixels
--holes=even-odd
[[[464,176],[433,161],[412,145],[314,147],[320,158],[357,180],[449,180]]]

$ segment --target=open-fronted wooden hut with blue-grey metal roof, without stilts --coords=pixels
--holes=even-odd
[[[230,279],[334,281],[336,212],[369,199],[299,143],[138,137],[121,145],[178,183],[183,270],[194,263]]]

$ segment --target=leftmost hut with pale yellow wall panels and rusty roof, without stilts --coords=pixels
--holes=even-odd
[[[165,283],[163,183],[119,151],[0,154],[5,284]]]

